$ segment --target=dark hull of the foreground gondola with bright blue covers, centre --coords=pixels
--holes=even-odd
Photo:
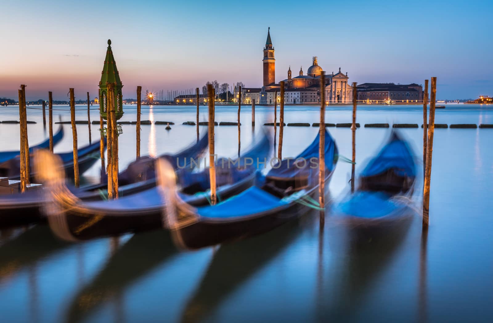
[[[325,194],[329,191],[328,183],[331,177],[332,173],[325,179]],[[312,198],[317,198],[318,186],[313,188],[309,195]],[[312,208],[309,206],[291,202],[280,208],[238,220],[213,221],[201,218],[192,225],[173,230],[174,241],[180,248],[198,249],[241,240],[282,226],[310,210]]]

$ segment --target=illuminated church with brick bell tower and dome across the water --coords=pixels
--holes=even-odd
[[[274,104],[277,99],[281,101],[281,86],[276,83],[276,60],[274,57],[274,46],[270,34],[270,28],[267,32],[267,40],[263,50],[263,86],[261,88],[242,89],[242,102],[251,103],[255,101],[258,104]],[[323,69],[318,65],[318,58],[312,58],[312,65],[308,68],[305,75],[300,68],[299,75],[292,77],[291,66],[287,70],[287,78],[284,82],[284,103],[285,104],[303,104],[320,102],[320,75]],[[325,98],[327,103],[350,103],[352,102],[352,86],[348,82],[348,73],[332,72],[325,74]],[[276,96],[277,93],[277,96]]]

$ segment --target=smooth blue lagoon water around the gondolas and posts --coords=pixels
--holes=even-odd
[[[93,106],[95,108],[96,106]],[[67,107],[55,106],[57,109]],[[84,109],[84,106],[77,106]],[[124,106],[122,121],[136,120]],[[317,106],[287,106],[285,122],[317,122]],[[272,122],[273,107],[242,106],[242,147]],[[1,120],[18,120],[16,107]],[[70,120],[68,111],[60,113]],[[236,107],[216,106],[216,121],[236,121]],[[201,106],[200,120],[207,118]],[[86,111],[77,111],[87,120]],[[40,110],[28,110],[31,144],[47,136]],[[91,121],[99,120],[91,111]],[[141,154],[176,152],[196,139],[193,106],[143,107]],[[351,122],[351,107],[328,107],[327,123]],[[420,106],[359,106],[357,122],[422,124]],[[451,105],[437,109],[436,123],[493,124],[493,108]],[[58,125],[54,129],[57,129]],[[71,150],[70,125],[55,152]],[[99,138],[91,125],[92,138]],[[216,127],[216,152],[234,157],[237,127]],[[200,127],[200,131],[206,131]],[[351,157],[351,130],[329,128],[339,151]],[[79,146],[87,126],[77,125]],[[388,135],[388,129],[356,131],[356,173]],[[295,156],[315,127],[285,127],[283,156]],[[418,156],[423,130],[402,129]],[[18,149],[19,125],[0,124],[2,150]],[[70,244],[48,227],[2,232],[1,322],[491,322],[493,319],[493,129],[436,129],[430,196],[430,228],[422,242],[421,218],[395,239],[348,249],[340,226],[327,215],[319,233],[317,214],[245,241],[194,252],[177,252],[163,232]],[[135,125],[123,125],[120,169],[135,159]],[[95,182],[99,163],[84,174]],[[339,162],[330,197],[348,190],[351,165]],[[420,204],[420,200],[416,204]]]

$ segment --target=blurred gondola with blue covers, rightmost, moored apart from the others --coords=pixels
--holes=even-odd
[[[392,131],[364,167],[353,194],[334,205],[332,219],[348,225],[352,242],[368,242],[405,229],[415,214],[411,197],[417,165],[409,144]]]

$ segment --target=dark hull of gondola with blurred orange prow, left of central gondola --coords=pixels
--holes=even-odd
[[[252,174],[244,181],[226,190],[219,190],[220,199],[226,199],[240,194],[251,187],[255,180]],[[209,204],[207,197],[196,196],[190,201],[192,205]],[[117,211],[90,209],[84,214],[75,210],[60,215],[49,216],[48,221],[52,230],[66,240],[88,240],[102,236],[118,236],[130,232],[142,232],[163,227],[165,205],[149,207],[133,211]],[[89,215],[88,215],[89,214]]]

